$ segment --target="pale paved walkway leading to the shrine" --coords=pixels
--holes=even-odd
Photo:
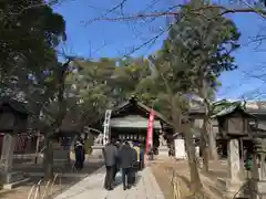
[[[112,191],[103,189],[104,168],[102,167],[91,176],[69,188],[55,199],[164,199],[164,196],[147,167],[136,177],[136,186],[123,190],[121,172],[117,174],[117,186]]]

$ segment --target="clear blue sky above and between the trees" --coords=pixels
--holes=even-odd
[[[226,3],[226,0],[219,1]],[[61,13],[66,21],[68,40],[63,45],[64,51],[68,54],[90,59],[149,55],[162,46],[166,34],[162,34],[145,46],[142,45],[164,32],[167,19],[149,18],[126,21],[117,18],[121,14],[165,11],[174,4],[182,3],[181,0],[127,0],[123,9],[116,9],[104,15],[106,10],[120,2],[121,0],[63,0],[61,4],[57,4],[54,11]],[[234,53],[238,69],[224,72],[219,78],[222,87],[217,92],[217,98],[266,100],[265,83],[256,77],[264,73],[266,45],[252,42],[258,34],[266,35],[266,21],[255,13],[237,13],[227,17],[242,32],[242,48]]]

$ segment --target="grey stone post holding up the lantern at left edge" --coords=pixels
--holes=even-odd
[[[1,170],[3,174],[12,171],[14,145],[16,136],[11,134],[4,134],[1,154]]]

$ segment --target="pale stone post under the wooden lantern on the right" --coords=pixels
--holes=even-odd
[[[242,180],[239,178],[241,172],[241,157],[239,157],[239,144],[238,139],[231,139],[228,144],[228,181],[226,189],[229,192],[237,192],[241,189]]]

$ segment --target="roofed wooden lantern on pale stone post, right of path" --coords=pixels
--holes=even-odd
[[[228,177],[226,190],[229,193],[237,192],[243,182],[241,175],[239,144],[243,151],[243,137],[250,136],[250,124],[256,118],[248,114],[243,105],[232,105],[215,115],[219,126],[219,136],[227,143]]]

